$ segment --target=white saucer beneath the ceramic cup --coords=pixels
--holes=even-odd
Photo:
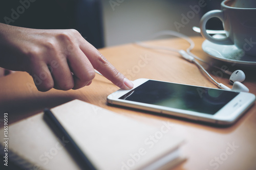
[[[215,38],[223,38],[223,35],[216,34]],[[236,63],[241,66],[256,68],[256,56],[244,54],[244,51],[235,45],[220,45],[205,40],[202,44],[203,51],[210,57],[217,60],[222,60],[228,63]]]

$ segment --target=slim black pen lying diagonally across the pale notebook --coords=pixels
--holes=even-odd
[[[67,145],[69,145],[70,147],[70,152],[75,152],[75,155],[73,156],[77,157],[75,160],[78,161],[77,163],[80,164],[80,166],[82,166],[82,169],[96,170],[94,165],[90,162],[87,156],[80,150],[76,142],[68,134],[65,128],[59,123],[58,119],[54,116],[54,114],[49,109],[45,109],[44,113],[44,118],[47,118],[48,123],[50,123],[49,126],[51,126],[51,128],[56,128],[53,129],[53,131],[55,131],[55,134],[61,133],[69,141],[70,144],[68,143]],[[56,130],[58,132],[56,132]],[[60,134],[56,135],[59,136]],[[79,159],[80,161],[77,159]]]

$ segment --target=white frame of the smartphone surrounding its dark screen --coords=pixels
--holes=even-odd
[[[151,79],[137,79],[137,80],[133,81],[134,88],[138,87],[139,85],[145,83],[148,80],[151,80]],[[158,80],[154,80],[154,81],[158,81]],[[176,83],[176,84],[180,84],[180,83]],[[191,86],[191,85],[188,85],[188,86]],[[196,87],[201,87],[201,86],[196,86]],[[205,88],[205,87],[203,87],[203,88]],[[207,88],[209,88],[209,87],[207,87]],[[131,90],[133,90],[133,89],[131,89]],[[164,107],[164,106],[157,106],[157,105],[152,105],[152,104],[138,103],[138,102],[118,99],[131,90],[119,89],[119,90],[115,91],[114,93],[112,93],[108,96],[108,98],[107,98],[108,103],[142,109],[142,110],[147,110],[147,111],[153,111],[153,112],[158,112],[158,113],[164,113],[164,114],[169,114],[169,115],[174,115],[174,116],[179,116],[179,117],[184,117],[184,118],[189,118],[189,119],[194,119],[194,120],[200,120],[203,122],[222,124],[222,125],[230,125],[230,124],[236,122],[236,120],[251,105],[253,105],[253,102],[255,101],[254,94],[240,92],[234,99],[232,99],[228,104],[226,104],[217,113],[215,113],[214,115],[210,115],[210,114],[206,114],[206,113],[199,113],[199,112],[194,112],[194,111],[181,110],[181,109],[169,108],[169,107]],[[219,90],[223,90],[223,89],[219,89]]]

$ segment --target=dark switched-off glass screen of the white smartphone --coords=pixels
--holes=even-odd
[[[119,99],[214,115],[239,92],[148,80]]]

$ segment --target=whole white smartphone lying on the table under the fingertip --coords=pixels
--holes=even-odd
[[[255,95],[217,88],[137,79],[131,90],[110,94],[108,103],[231,125],[255,102]]]

